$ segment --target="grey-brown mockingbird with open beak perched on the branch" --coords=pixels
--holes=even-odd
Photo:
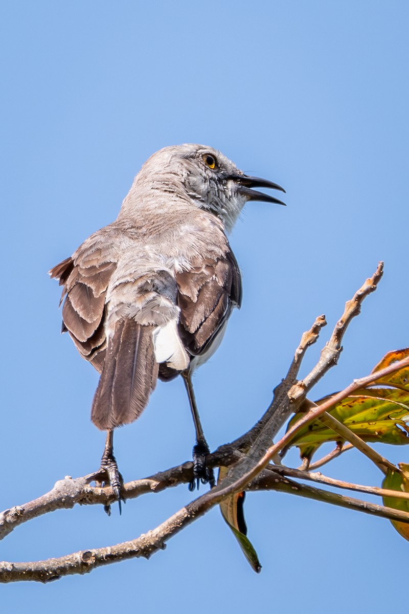
[[[214,483],[191,373],[218,348],[240,306],[226,233],[249,200],[284,204],[255,187],[285,191],[243,174],[212,147],[165,147],[142,166],[115,222],[50,271],[63,286],[62,330],[101,373],[91,418],[107,430],[101,473],[119,501],[113,429],[140,416],[157,378],[178,374],[196,427],[195,476]]]

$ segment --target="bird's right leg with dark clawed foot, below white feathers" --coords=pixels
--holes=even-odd
[[[210,483],[215,486],[215,474],[212,468],[206,465],[206,456],[210,453],[206,438],[202,429],[199,411],[197,411],[196,397],[194,396],[191,371],[188,369],[182,372],[185,382],[186,392],[189,397],[189,405],[193,416],[194,429],[196,430],[196,444],[193,446],[193,480],[189,484],[189,490],[193,491],[195,485],[199,489],[199,484]]]

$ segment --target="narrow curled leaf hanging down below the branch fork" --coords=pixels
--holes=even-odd
[[[223,480],[226,473],[227,468],[220,467],[219,482]],[[239,542],[245,558],[247,558],[247,561],[250,563],[254,571],[259,573],[261,571],[261,565],[257,553],[247,537],[247,526],[243,513],[244,500],[245,492],[238,492],[237,494],[231,495],[231,497],[224,499],[224,501],[220,503],[220,511],[224,520],[231,528],[237,542]]]

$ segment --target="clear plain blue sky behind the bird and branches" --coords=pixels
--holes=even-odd
[[[161,147],[209,144],[287,190],[287,208],[249,204],[231,237],[243,307],[196,376],[212,448],[254,424],[302,332],[321,313],[334,325],[378,260],[384,279],[312,397],[408,344],[408,17],[394,0],[2,4],[0,509],[99,464],[104,434],[89,418],[97,374],[59,335],[47,270],[117,216]],[[174,381],[116,433],[115,452],[129,480],[189,459],[192,444]],[[408,448],[381,449],[408,461]],[[354,453],[325,472],[381,481]],[[185,486],[147,495],[121,517],[59,511],[16,529],[0,559],[128,540],[189,497]],[[274,493],[249,495],[246,515],[260,575],[215,509],[150,561],[2,585],[2,612],[407,612],[409,544],[388,521]]]

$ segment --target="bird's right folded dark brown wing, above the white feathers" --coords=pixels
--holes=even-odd
[[[210,348],[234,306],[242,301],[239,265],[229,250],[217,260],[206,258],[176,274],[180,336],[186,349],[199,356]]]

